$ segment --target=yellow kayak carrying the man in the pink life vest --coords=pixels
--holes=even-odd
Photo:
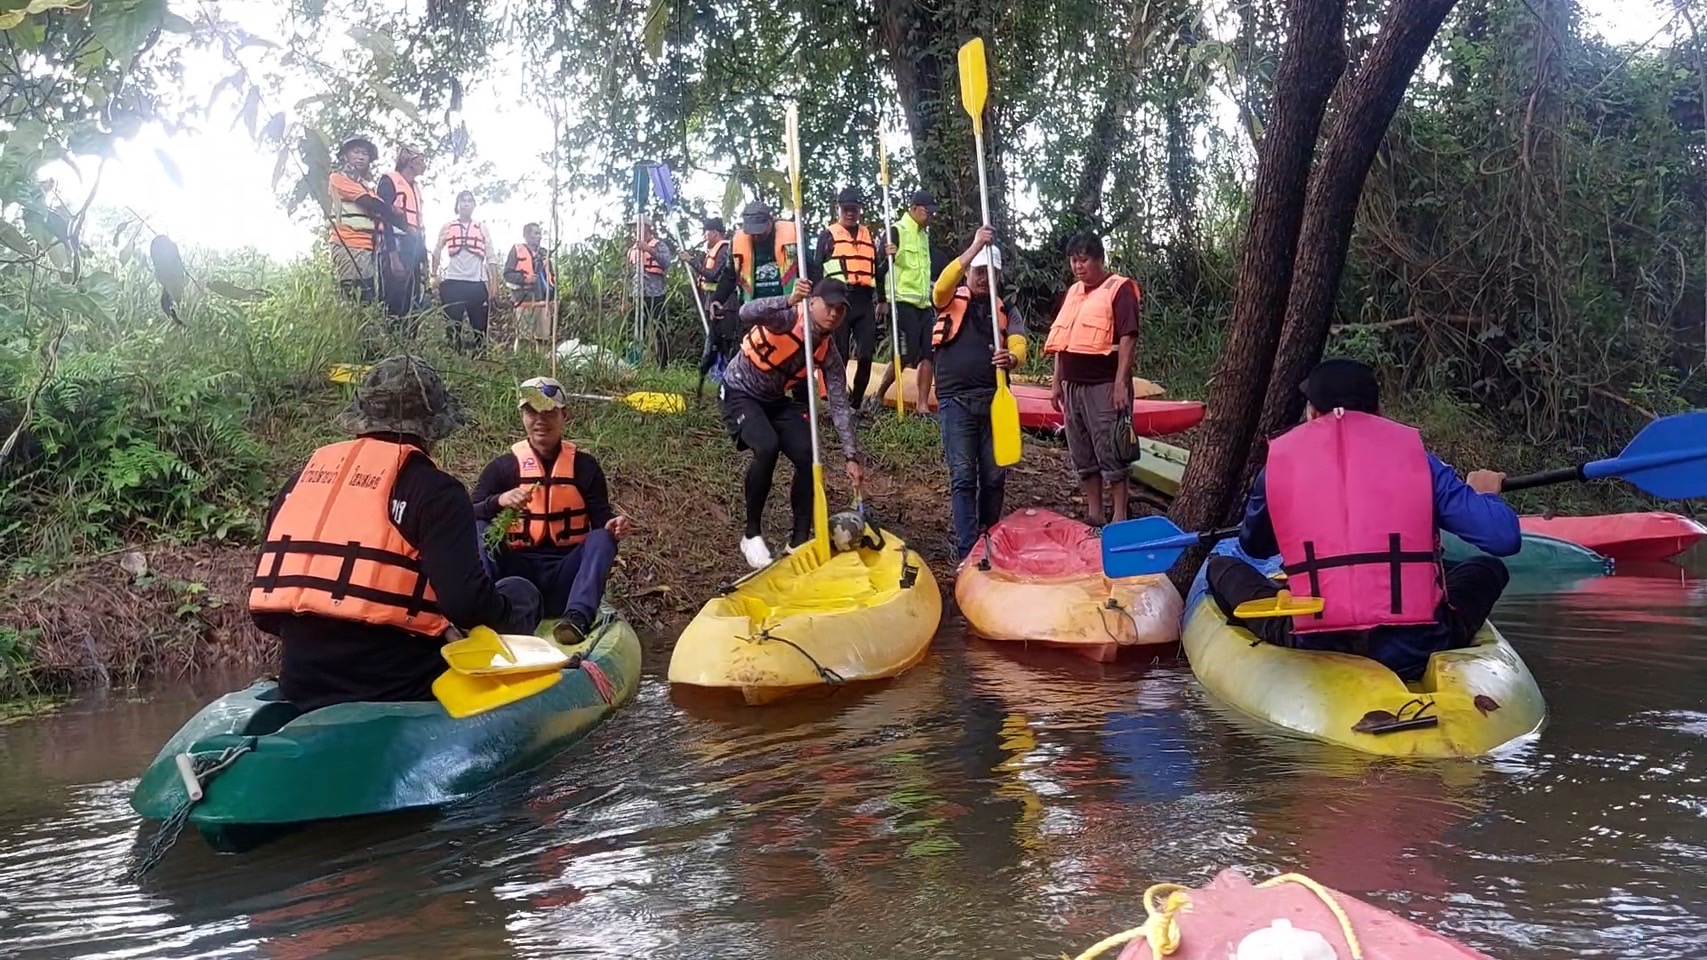
[[[1429,658],[1422,680],[1408,685],[1364,656],[1255,644],[1209,598],[1186,617],[1180,644],[1221,702],[1364,753],[1480,757],[1547,719],[1535,676],[1492,623],[1470,647]]]

